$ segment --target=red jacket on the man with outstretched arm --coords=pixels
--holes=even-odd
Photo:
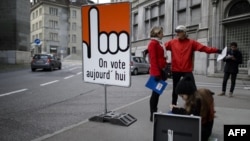
[[[192,39],[173,39],[165,43],[167,50],[171,51],[173,72],[192,72],[194,51],[217,53],[218,49],[207,47]]]

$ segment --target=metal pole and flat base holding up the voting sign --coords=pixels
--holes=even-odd
[[[110,122],[112,124],[117,124],[121,126],[129,126],[132,123],[136,122],[137,119],[130,114],[127,113],[116,113],[114,111],[108,111],[107,108],[107,85],[104,84],[104,94],[105,94],[105,106],[104,113],[91,117],[89,121],[97,121],[97,122]]]

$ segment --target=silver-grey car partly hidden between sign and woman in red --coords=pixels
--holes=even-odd
[[[139,73],[149,73],[150,64],[143,57],[132,56],[130,69],[133,75],[137,75]]]

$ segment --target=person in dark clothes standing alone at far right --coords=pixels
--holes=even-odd
[[[235,82],[237,74],[239,72],[239,64],[242,64],[242,53],[238,49],[236,42],[230,43],[230,49],[227,52],[223,61],[226,62],[224,66],[224,77],[222,82],[222,92],[219,96],[224,96],[226,94],[227,80],[231,76],[231,88],[229,91],[229,97],[233,96]]]

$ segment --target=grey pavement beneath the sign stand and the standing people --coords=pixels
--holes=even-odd
[[[249,81],[237,80],[235,95],[217,96],[221,92],[221,78],[195,76],[198,88],[206,87],[216,93],[215,110],[216,118],[212,138],[223,141],[223,125],[225,124],[250,124],[250,86]],[[172,80],[160,97],[159,111],[166,112],[171,101]],[[220,84],[220,85],[218,85]],[[229,86],[229,84],[228,84]],[[150,95],[151,91],[148,91]],[[179,101],[181,101],[179,99]],[[180,102],[179,105],[182,103]],[[64,128],[50,135],[37,138],[34,141],[152,141],[153,123],[149,121],[149,96],[135,101],[129,105],[115,110],[119,113],[129,113],[137,121],[130,126],[120,126],[111,123],[82,121],[71,127]]]

